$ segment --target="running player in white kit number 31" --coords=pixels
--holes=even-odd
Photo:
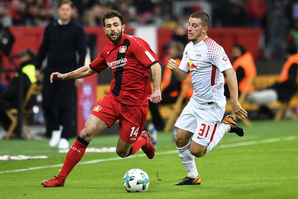
[[[167,64],[167,68],[181,82],[190,72],[194,86],[193,96],[175,124],[178,129],[174,140],[187,171],[187,176],[176,185],[201,184],[195,157],[202,157],[212,150],[226,132],[244,135],[243,128],[231,115],[221,122],[226,105],[223,73],[230,91],[232,111],[241,119],[247,117],[247,112],[238,102],[236,73],[224,49],[207,36],[209,26],[207,13],[192,14],[188,21],[190,42],[184,49],[180,66],[174,59]]]

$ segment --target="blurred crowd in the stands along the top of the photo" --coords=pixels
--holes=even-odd
[[[211,26],[251,27],[264,29],[262,48],[264,57],[278,58],[289,35],[298,31],[298,1],[296,0],[73,0],[75,20],[85,27],[102,26],[102,15],[107,10],[118,10],[129,27],[155,26],[187,28],[189,14],[205,11],[211,16]],[[56,17],[58,0],[0,0],[2,27],[45,27]],[[296,42],[298,43],[298,42]]]

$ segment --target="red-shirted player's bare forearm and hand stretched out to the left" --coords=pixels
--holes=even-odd
[[[92,70],[89,66],[82,66],[74,71],[71,71],[69,73],[59,73],[59,72],[53,72],[50,76],[50,82],[53,83],[54,79],[58,80],[64,80],[64,79],[80,79],[83,77],[90,76],[94,74],[95,71]]]

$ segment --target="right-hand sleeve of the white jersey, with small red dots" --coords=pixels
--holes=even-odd
[[[215,65],[221,72],[232,68],[227,54],[220,45],[216,45],[215,48],[208,49],[208,58],[210,63]]]

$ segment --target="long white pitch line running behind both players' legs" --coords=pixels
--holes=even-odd
[[[229,147],[239,147],[239,146],[249,146],[249,145],[257,145],[257,144],[273,143],[273,142],[279,142],[279,141],[291,141],[291,140],[296,140],[297,138],[298,138],[298,136],[288,136],[288,137],[283,137],[283,138],[271,138],[271,139],[261,140],[261,141],[249,141],[249,142],[240,142],[240,143],[235,143],[235,144],[219,145],[217,148],[229,148]],[[173,151],[157,152],[156,155],[164,155],[164,154],[171,154],[171,153],[177,153],[177,151],[173,150]],[[133,155],[133,156],[125,157],[125,159],[143,157],[143,156],[145,156],[145,154]],[[112,157],[112,158],[106,158],[106,159],[100,159],[100,160],[79,162],[78,165],[94,164],[94,163],[100,163],[100,162],[117,161],[117,160],[125,160],[125,159],[123,159],[122,157]],[[21,171],[30,171],[30,170],[37,170],[37,169],[46,169],[46,168],[53,168],[53,167],[62,167],[62,166],[63,166],[62,164],[59,164],[59,165],[50,165],[50,166],[43,166],[43,167],[31,167],[31,168],[27,168],[27,169],[0,171],[0,174],[21,172]]]

